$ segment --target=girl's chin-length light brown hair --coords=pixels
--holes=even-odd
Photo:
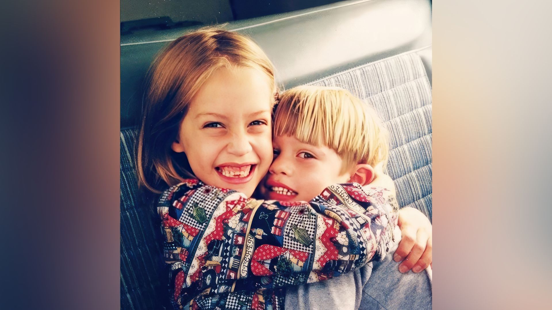
[[[172,41],[156,56],[146,77],[136,148],[140,187],[160,193],[166,185],[194,177],[185,154],[173,152],[171,144],[194,95],[222,67],[261,70],[278,92],[272,62],[245,35],[206,27]]]

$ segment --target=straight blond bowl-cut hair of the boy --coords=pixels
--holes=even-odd
[[[388,131],[376,111],[346,89],[299,86],[280,94],[274,135],[333,149],[344,161],[372,167],[389,156]]]

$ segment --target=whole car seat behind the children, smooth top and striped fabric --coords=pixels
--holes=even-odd
[[[408,9],[402,6],[403,3],[409,6]],[[308,10],[306,13],[299,11],[254,19],[251,22],[235,22],[230,24],[230,29],[241,29],[238,31],[247,33],[259,43],[273,59],[284,87],[290,88],[298,84],[339,86],[348,89],[367,104],[373,105],[390,131],[392,149],[387,172],[395,181],[400,206],[415,207],[431,220],[431,4],[428,3],[375,0],[347,7],[339,7],[338,3],[335,4],[337,7],[328,6],[323,10]],[[413,14],[418,19],[428,18],[430,26],[423,34],[411,31],[412,38],[403,38],[404,36],[396,35],[397,31],[400,32],[396,28],[373,28],[367,32],[363,28],[348,29],[343,28],[344,24],[335,23],[336,16],[343,18],[357,11],[366,12],[367,17],[377,15],[395,22],[404,20],[408,14]],[[358,14],[357,21],[360,16]],[[409,23],[417,23],[416,18],[410,20]],[[405,26],[408,27],[408,23]],[[416,27],[423,30],[419,25]],[[359,35],[348,34],[348,38],[358,37],[359,40],[366,40],[365,34],[369,33],[373,38],[395,38],[396,46],[374,46],[371,50],[348,52],[347,55],[341,54],[344,57],[343,63],[328,64],[327,61],[320,61],[320,67],[315,68],[312,66],[315,66],[316,62],[310,62],[309,68],[312,70],[301,71],[296,68],[299,59],[297,57],[306,57],[305,55],[310,55],[312,51],[320,50],[320,46],[309,47],[305,46],[304,41],[300,41],[298,31],[301,28],[319,32],[320,42],[326,34],[335,35],[335,31],[339,31],[339,35],[344,35],[347,31],[358,31]],[[293,53],[288,50],[286,54],[282,51],[281,44],[271,43],[274,41],[274,34],[281,37],[285,35],[282,31],[286,30],[293,40],[285,42],[285,46],[294,51]],[[121,39],[121,125],[125,126],[121,129],[120,136],[121,309],[162,309],[162,304],[168,300],[163,283],[167,280],[167,272],[163,271],[162,266],[161,242],[158,240],[162,236],[157,213],[152,202],[141,195],[136,185],[135,130],[132,129],[132,125],[138,117],[139,102],[136,98],[139,96],[136,94],[139,93],[145,68],[151,62],[153,54],[166,44],[166,41],[176,38],[181,33],[182,31],[171,34],[167,38],[162,38],[163,40],[150,38],[148,41],[146,38],[143,40],[148,42],[142,45],[138,42],[140,38],[125,39],[125,43]],[[315,43],[312,38],[309,40],[312,44]],[[370,44],[377,45],[377,42],[373,41]],[[386,41],[388,44],[389,42],[391,41]],[[302,55],[300,51],[306,47],[310,50]],[[386,51],[378,52],[381,49]],[[361,57],[363,52],[365,55]],[[329,57],[328,55],[325,54],[324,57]],[[335,55],[340,57],[339,53]],[[286,57],[295,58],[286,63]]]

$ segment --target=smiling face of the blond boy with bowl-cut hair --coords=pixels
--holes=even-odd
[[[309,201],[335,183],[346,183],[351,175],[341,173],[343,160],[326,146],[302,143],[295,137],[273,139],[274,161],[264,183],[268,199]]]

